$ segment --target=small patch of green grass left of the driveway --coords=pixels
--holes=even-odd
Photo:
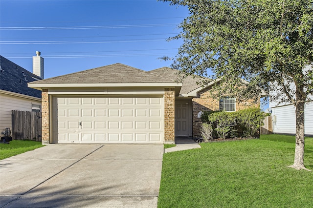
[[[0,160],[27,152],[44,145],[41,142],[13,140],[10,144],[0,144]]]

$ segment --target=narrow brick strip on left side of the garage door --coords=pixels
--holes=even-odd
[[[42,144],[49,144],[49,95],[48,89],[43,89],[41,93],[42,99]]]

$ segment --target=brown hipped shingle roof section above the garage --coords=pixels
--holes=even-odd
[[[172,78],[156,77],[146,71],[115,63],[34,83],[176,83]]]

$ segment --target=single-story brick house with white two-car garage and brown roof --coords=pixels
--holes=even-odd
[[[205,110],[257,105],[213,100],[177,70],[143,71],[121,63],[28,83],[42,90],[42,141],[49,143],[174,143],[200,136]]]

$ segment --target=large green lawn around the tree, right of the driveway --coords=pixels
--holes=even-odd
[[[313,138],[305,143],[313,169]],[[158,207],[312,208],[313,172],[287,167],[294,146],[294,136],[262,135],[165,153]]]

